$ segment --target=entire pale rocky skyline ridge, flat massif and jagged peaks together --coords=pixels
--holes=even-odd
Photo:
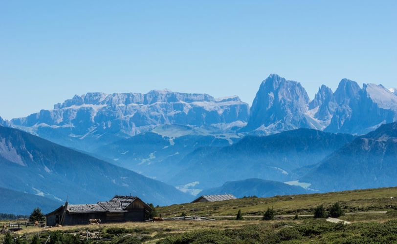
[[[320,86],[310,101],[301,83],[271,74],[262,81],[251,108],[237,96],[215,99],[169,90],[87,93],[57,103],[52,110],[12,119],[7,126],[88,152],[162,125],[212,127],[212,134],[240,138],[299,128],[362,135],[397,121],[396,94],[394,88],[360,87],[342,79],[334,92]]]

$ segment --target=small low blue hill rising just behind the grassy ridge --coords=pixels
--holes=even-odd
[[[305,194],[308,192],[308,190],[299,186],[254,178],[226,182],[221,187],[203,190],[199,195],[233,194],[241,198],[243,196],[272,197],[277,195]]]

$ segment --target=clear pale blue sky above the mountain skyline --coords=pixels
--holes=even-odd
[[[310,98],[397,86],[396,0],[2,0],[0,116],[75,94],[168,88],[252,103],[270,73]]]

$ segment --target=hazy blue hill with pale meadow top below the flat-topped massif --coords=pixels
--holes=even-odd
[[[237,136],[194,132],[182,125],[162,125],[129,139],[102,146],[93,153],[111,162],[161,181],[167,181],[180,170],[178,163],[195,149],[226,146],[239,140]]]

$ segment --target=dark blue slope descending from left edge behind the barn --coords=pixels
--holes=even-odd
[[[23,131],[0,127],[0,186],[71,203],[137,195],[155,204],[182,203],[173,186]]]

